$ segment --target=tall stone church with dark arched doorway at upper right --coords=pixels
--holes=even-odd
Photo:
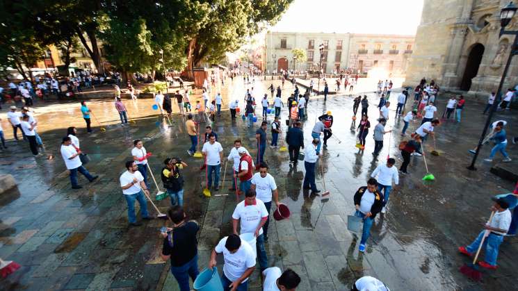
[[[424,0],[407,71],[407,85],[423,76],[446,90],[487,94],[498,88],[512,39],[499,37],[500,10],[509,0]],[[507,26],[518,30],[517,17]],[[518,83],[513,60],[505,87]]]

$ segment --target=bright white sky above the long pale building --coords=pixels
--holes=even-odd
[[[295,0],[271,31],[414,35],[423,0]]]

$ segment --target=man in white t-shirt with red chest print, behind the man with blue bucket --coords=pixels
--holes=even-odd
[[[255,198],[255,191],[250,189],[245,193],[245,200],[238,203],[234,213],[232,213],[232,228],[234,234],[254,233],[256,237],[257,257],[261,272],[268,267],[268,257],[264,247],[263,226],[268,219],[268,210],[264,202]],[[241,222],[241,223],[240,223]],[[240,232],[237,226],[240,225]]]

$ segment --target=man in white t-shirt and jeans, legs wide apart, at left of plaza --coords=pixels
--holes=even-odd
[[[83,176],[85,176],[90,182],[99,177],[92,176],[88,170],[83,167],[83,163],[81,163],[81,159],[79,158],[81,150],[72,146],[72,139],[70,137],[65,136],[65,138],[63,138],[60,152],[63,160],[65,161],[65,166],[67,166],[67,169],[70,171],[70,183],[72,183],[72,189],[82,188],[77,183],[77,172],[83,174]]]

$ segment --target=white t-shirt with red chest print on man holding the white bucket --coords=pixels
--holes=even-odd
[[[264,202],[260,199],[255,199],[255,205],[245,206],[245,201],[241,201],[236,205],[232,218],[240,219],[241,230],[239,234],[243,233],[255,233],[257,226],[261,222],[262,218],[268,217],[268,210],[264,206]],[[263,234],[263,228],[259,229],[259,235]]]

